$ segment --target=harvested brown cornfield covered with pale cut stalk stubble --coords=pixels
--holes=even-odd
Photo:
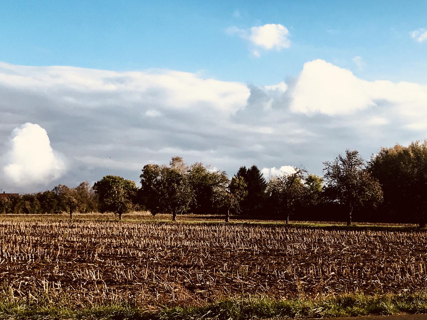
[[[197,305],[425,288],[425,232],[262,224],[0,221],[0,275],[17,298]]]

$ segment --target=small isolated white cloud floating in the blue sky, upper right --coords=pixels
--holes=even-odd
[[[252,47],[252,53],[260,57],[260,49],[281,50],[290,47],[290,40],[287,38],[289,30],[281,24],[265,24],[263,26],[253,26],[250,30],[239,29],[231,26],[227,30],[229,35],[238,35],[240,38],[248,40]]]

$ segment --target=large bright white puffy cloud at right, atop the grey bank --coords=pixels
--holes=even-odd
[[[409,82],[366,81],[323,60],[304,64],[292,91],[291,110],[330,116],[388,104],[408,127],[427,128],[427,86]]]

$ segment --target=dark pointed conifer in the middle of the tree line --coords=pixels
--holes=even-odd
[[[239,168],[236,177],[243,177],[247,185],[248,195],[243,198],[240,207],[246,214],[257,214],[263,207],[267,182],[257,166],[249,169],[246,166]]]

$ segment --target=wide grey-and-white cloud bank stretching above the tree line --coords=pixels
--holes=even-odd
[[[427,86],[366,81],[323,60],[269,86],[1,63],[0,96],[0,188],[18,192],[109,174],[137,181],[145,164],[176,155],[229,175],[252,164],[266,177],[287,166],[322,175],[346,148],[369,158],[427,133]]]

